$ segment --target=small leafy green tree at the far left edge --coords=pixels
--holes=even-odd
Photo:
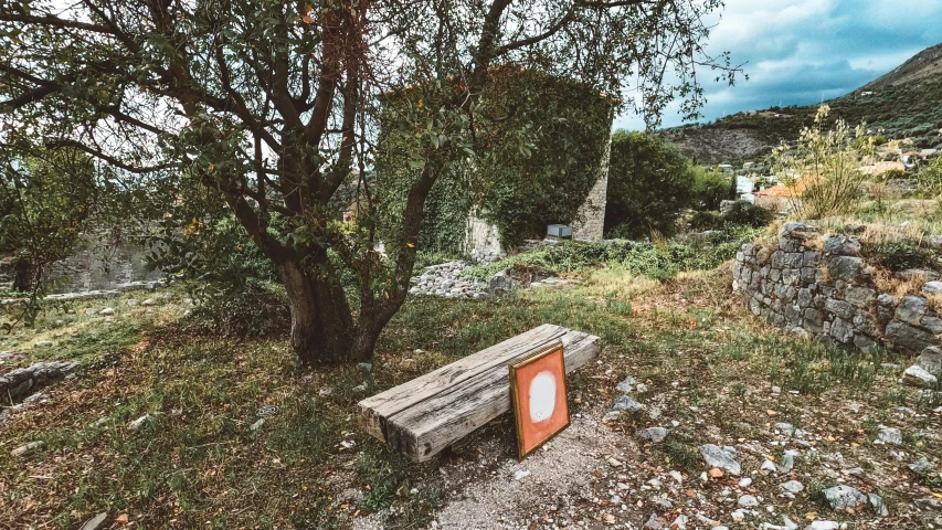
[[[13,290],[35,294],[46,267],[73,252],[96,195],[94,161],[76,149],[0,161],[0,252],[13,259]]]

